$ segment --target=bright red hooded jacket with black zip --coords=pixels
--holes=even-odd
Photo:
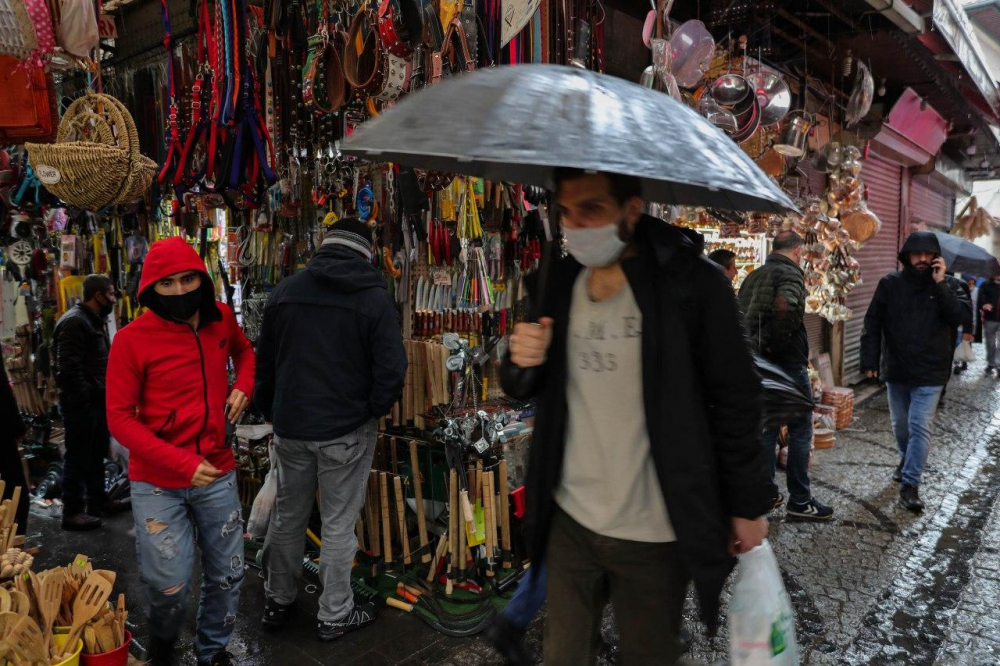
[[[210,284],[204,262],[184,239],[154,243],[139,301],[153,295],[158,280],[186,271],[202,273],[203,287]],[[233,388],[249,397],[254,354],[232,310],[211,298],[197,332],[147,310],[115,335],[108,358],[108,427],[129,450],[133,481],[187,488],[202,460],[223,472],[235,467],[226,446],[227,362],[232,358],[236,366]]]

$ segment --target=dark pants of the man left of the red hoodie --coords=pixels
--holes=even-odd
[[[63,515],[104,510],[104,458],[111,439],[104,405],[63,409],[66,459],[63,463]]]

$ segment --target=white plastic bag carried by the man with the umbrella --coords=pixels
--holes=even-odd
[[[732,666],[799,663],[792,601],[767,540],[740,555],[729,602],[729,643]]]

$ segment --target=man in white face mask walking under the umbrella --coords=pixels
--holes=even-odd
[[[689,579],[714,627],[733,554],[767,533],[760,380],[700,235],[643,215],[633,178],[560,170],[556,185],[571,256],[502,369],[509,394],[537,400],[527,505],[548,570],[545,663],[593,664],[610,601],[622,662],[672,664]]]

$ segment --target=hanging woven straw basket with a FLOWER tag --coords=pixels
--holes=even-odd
[[[68,204],[100,210],[128,203],[149,189],[156,163],[139,152],[139,135],[125,106],[91,93],[73,102],[54,144],[25,144],[45,188]]]

